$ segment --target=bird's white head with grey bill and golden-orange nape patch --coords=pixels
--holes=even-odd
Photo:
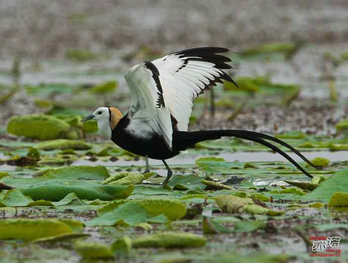
[[[96,109],[92,115],[89,115],[81,121],[95,119],[98,123],[100,134],[111,139],[111,131],[116,127],[122,119],[122,113],[114,107],[100,107]]]

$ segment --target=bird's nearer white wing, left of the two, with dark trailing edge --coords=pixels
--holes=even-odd
[[[153,131],[162,136],[171,150],[172,125],[169,109],[163,98],[159,73],[151,62],[132,67],[125,75],[131,91],[132,105],[129,110],[132,132],[142,134]],[[145,125],[144,125],[145,124]]]

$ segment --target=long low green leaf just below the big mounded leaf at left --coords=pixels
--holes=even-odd
[[[36,148],[39,150],[50,151],[50,150],[57,150],[57,149],[58,150],[65,150],[65,149],[89,150],[92,147],[89,144],[82,141],[60,139],[60,140],[42,142],[38,144]]]

